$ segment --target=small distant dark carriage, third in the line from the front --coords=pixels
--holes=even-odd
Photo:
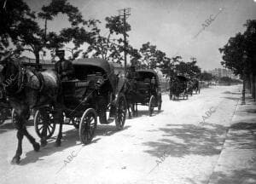
[[[184,76],[177,75],[170,80],[170,100],[175,100],[179,97],[183,97],[183,99],[189,98],[188,91],[188,82],[189,79]]]

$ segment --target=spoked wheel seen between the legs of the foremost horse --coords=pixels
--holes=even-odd
[[[50,107],[39,109],[34,118],[36,133],[40,138],[49,139],[55,132],[53,112]]]

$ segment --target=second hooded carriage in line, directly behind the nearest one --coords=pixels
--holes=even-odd
[[[148,114],[151,116],[154,107],[161,110],[162,97],[160,81],[154,70],[137,70],[137,77],[130,80],[130,88],[126,91],[131,111],[137,112],[137,105],[148,106]],[[129,112],[130,113],[130,112]]]

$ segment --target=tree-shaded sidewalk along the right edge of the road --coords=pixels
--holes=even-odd
[[[256,103],[239,101],[209,184],[256,183]]]

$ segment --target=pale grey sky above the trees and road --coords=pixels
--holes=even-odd
[[[25,0],[38,11],[49,0]],[[128,22],[129,43],[136,49],[150,42],[168,57],[181,55],[184,61],[195,57],[203,70],[221,67],[218,51],[244,32],[246,20],[256,19],[256,0],[69,0],[85,20],[105,23],[107,16],[118,15],[119,9],[131,8]],[[206,21],[212,21],[206,26]],[[204,24],[204,26],[203,26]],[[60,14],[49,23],[49,31],[58,32],[69,26],[67,16]],[[204,28],[204,29],[203,29]],[[102,30],[102,35],[107,31]],[[68,47],[68,46],[67,46]],[[67,52],[66,52],[67,53]],[[68,54],[68,53],[67,53]],[[32,54],[27,54],[33,57]],[[49,55],[46,56],[49,59]]]

